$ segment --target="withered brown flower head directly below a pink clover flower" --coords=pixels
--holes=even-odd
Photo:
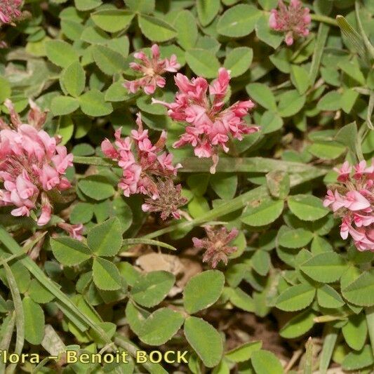
[[[167,178],[166,180],[158,179],[156,187],[157,191],[159,191],[159,197],[156,199],[145,199],[145,203],[142,204],[142,210],[145,212],[159,212],[163,220],[166,220],[169,216],[179,220],[179,208],[187,203],[187,199],[180,195],[182,186],[175,186],[173,180]]]

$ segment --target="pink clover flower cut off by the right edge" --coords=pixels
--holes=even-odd
[[[347,161],[334,169],[340,184],[328,189],[323,205],[342,218],[342,239],[350,235],[359,251],[374,251],[374,164],[361,161],[353,169]]]

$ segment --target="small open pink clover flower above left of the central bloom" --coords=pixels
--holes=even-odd
[[[152,95],[156,91],[156,87],[163,88],[166,84],[162,74],[166,72],[175,73],[180,68],[175,55],[171,55],[170,59],[160,59],[160,51],[157,44],[151,47],[151,52],[152,58],[150,60],[142,51],[134,53],[134,57],[140,60],[140,63],[131,62],[130,67],[136,72],[141,72],[143,76],[134,81],[125,81],[123,86],[131,93],[135,93],[140,88],[143,88],[147,95]]]

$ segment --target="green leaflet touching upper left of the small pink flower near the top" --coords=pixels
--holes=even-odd
[[[107,75],[120,73],[127,69],[126,60],[123,58],[123,55],[113,51],[112,48],[96,44],[92,48],[92,56],[95,64]]]

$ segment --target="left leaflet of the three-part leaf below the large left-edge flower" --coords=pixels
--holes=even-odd
[[[84,243],[68,236],[51,238],[51,248],[56,260],[62,265],[79,265],[91,258],[91,251]]]

